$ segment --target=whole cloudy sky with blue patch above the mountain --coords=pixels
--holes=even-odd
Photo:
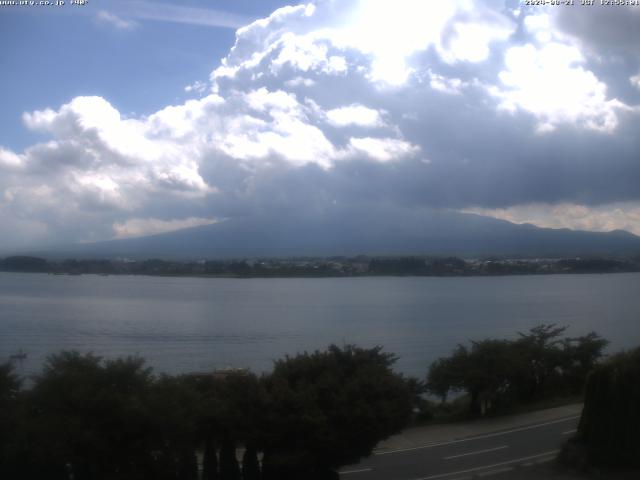
[[[640,234],[640,6],[9,3],[0,248],[428,209]]]

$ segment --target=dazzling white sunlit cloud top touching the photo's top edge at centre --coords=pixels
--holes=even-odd
[[[435,47],[447,63],[482,62],[491,45],[516,28],[509,18],[471,0],[347,0],[340,9],[331,2],[311,7],[285,7],[239,29],[212,81],[265,64],[272,74],[288,66],[302,73],[344,75],[362,67],[350,65],[345,55],[356,51],[369,59],[367,78],[401,86],[416,71],[414,54]]]

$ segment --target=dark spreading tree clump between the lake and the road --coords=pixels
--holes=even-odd
[[[580,395],[608,342],[595,332],[563,337],[566,329],[539,325],[515,340],[458,345],[450,356],[431,364],[427,390],[443,403],[452,393],[464,394],[454,406],[465,405],[470,415]]]

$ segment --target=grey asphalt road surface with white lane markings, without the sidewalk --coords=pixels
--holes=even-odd
[[[383,450],[340,472],[342,480],[462,480],[553,460],[579,415],[409,448]],[[505,475],[507,478],[509,475]]]

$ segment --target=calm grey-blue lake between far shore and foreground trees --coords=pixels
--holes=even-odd
[[[640,345],[640,273],[505,277],[218,279],[0,272],[0,361],[18,372],[61,349],[140,354],[157,372],[271,369],[331,343],[383,345],[396,369],[470,339],[514,338],[540,323],[595,330],[610,351]]]

